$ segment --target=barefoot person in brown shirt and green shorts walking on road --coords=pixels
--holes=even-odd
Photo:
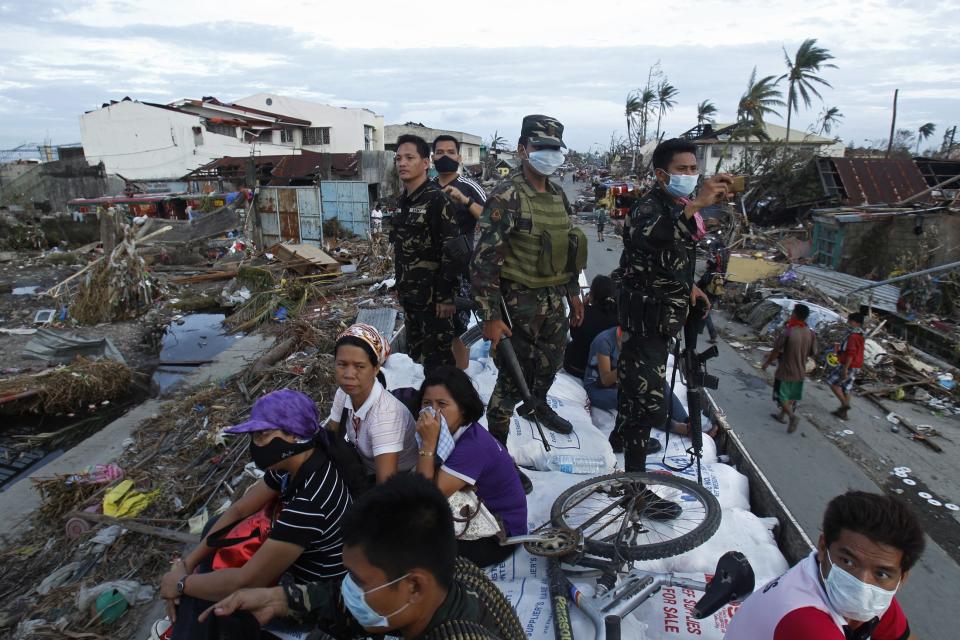
[[[773,351],[767,354],[761,369],[767,370],[777,361],[773,376],[773,399],[780,407],[773,419],[787,424],[787,433],[797,430],[800,418],[796,414],[797,402],[803,398],[803,379],[807,375],[807,358],[817,352],[817,335],[807,326],[810,308],[802,303],[793,307],[783,331],[773,343]]]

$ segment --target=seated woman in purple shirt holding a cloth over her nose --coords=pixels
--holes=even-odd
[[[467,374],[456,367],[437,367],[427,374],[420,393],[421,405],[433,408],[437,415],[423,411],[417,420],[423,443],[417,470],[448,498],[463,488],[475,489],[487,509],[503,523],[508,536],[526,534],[523,485],[506,448],[477,423],[484,405]],[[452,451],[438,448],[441,416],[453,436]],[[439,469],[434,454],[443,459]],[[457,541],[457,554],[480,567],[497,564],[513,551],[513,546],[501,546],[497,536]]]

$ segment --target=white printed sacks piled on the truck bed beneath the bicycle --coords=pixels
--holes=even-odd
[[[405,354],[392,355],[384,370],[391,389],[419,387],[423,381],[422,368]],[[487,402],[497,377],[493,361],[490,358],[471,360],[467,373],[473,379],[483,401]],[[685,390],[682,393],[685,393]],[[685,403],[685,395],[680,397]],[[574,432],[569,436],[546,431],[551,453],[603,455],[604,459],[609,461],[611,471],[617,461],[617,467],[623,468],[622,454],[615,456],[607,442],[615,414],[593,411],[591,420],[587,411],[586,392],[576,378],[566,373],[559,374],[547,399],[558,413],[574,425]],[[671,434],[667,444],[665,433],[654,431],[653,435],[664,444],[665,451],[648,457],[648,469],[669,471],[695,479],[695,467],[675,472],[669,470],[663,462],[666,456],[666,463],[671,466],[685,465],[689,461],[686,454],[686,449],[690,446],[689,438]],[[762,586],[787,568],[772,535],[776,521],[761,519],[750,513],[747,478],[733,467],[717,461],[716,443],[712,438],[704,435],[703,441],[704,486],[720,502],[723,511],[720,528],[710,540],[692,551],[673,558],[638,562],[636,566],[651,571],[674,571],[694,579],[703,579],[705,574],[713,571],[723,553],[739,550],[750,560],[757,576],[756,583]],[[518,463],[543,470],[528,472],[534,486],[533,493],[527,496],[528,523],[533,530],[549,521],[553,503],[563,491],[587,477],[547,471],[547,458],[550,454],[543,450],[536,427],[530,421],[514,416],[508,443],[510,454]],[[531,556],[520,547],[503,563],[489,567],[487,573],[510,599],[527,636],[551,640],[554,637],[553,614],[546,558]],[[592,583],[577,584],[585,593],[593,593]],[[726,607],[707,620],[695,621],[688,613],[692,602],[696,602],[700,595],[698,592],[684,592],[681,589],[665,589],[655,594],[624,620],[623,638],[722,638],[735,607]],[[571,604],[570,609],[574,636],[593,637],[594,630],[590,620],[574,605]]]

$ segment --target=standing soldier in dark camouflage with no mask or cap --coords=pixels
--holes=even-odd
[[[397,173],[403,182],[400,212],[393,216],[390,241],[403,306],[407,353],[425,370],[454,364],[454,295],[462,265],[445,251],[460,235],[455,206],[427,180],[430,146],[413,135],[397,139]]]

